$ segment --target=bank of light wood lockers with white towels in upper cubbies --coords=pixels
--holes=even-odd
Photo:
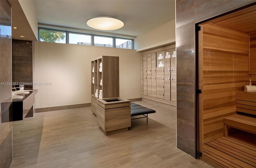
[[[144,51],[142,59],[142,98],[176,105],[176,51],[168,45]]]

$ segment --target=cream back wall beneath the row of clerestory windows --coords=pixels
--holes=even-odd
[[[141,98],[140,53],[73,44],[34,42],[36,108],[90,103],[91,61],[101,55],[119,56],[120,97]]]

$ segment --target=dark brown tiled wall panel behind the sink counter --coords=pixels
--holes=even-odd
[[[12,81],[18,83],[33,82],[32,41],[12,40]],[[25,85],[25,88],[28,88]]]

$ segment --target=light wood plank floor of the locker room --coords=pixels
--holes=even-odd
[[[35,113],[13,122],[10,168],[212,168],[176,148],[176,108],[132,120],[129,131],[106,136],[90,107]]]

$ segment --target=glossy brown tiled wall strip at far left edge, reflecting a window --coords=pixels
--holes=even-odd
[[[11,6],[0,0],[0,167],[12,162],[12,27]]]

